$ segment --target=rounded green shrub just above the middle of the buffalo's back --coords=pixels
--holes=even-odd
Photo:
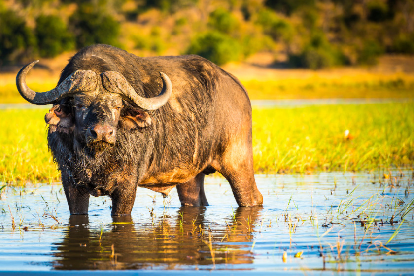
[[[240,60],[242,47],[233,38],[217,31],[210,31],[195,37],[186,53],[200,55],[222,65]]]

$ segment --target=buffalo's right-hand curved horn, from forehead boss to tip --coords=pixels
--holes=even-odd
[[[134,104],[142,110],[151,111],[157,110],[166,104],[173,91],[173,85],[171,84],[170,78],[163,72],[160,72],[160,76],[163,80],[163,89],[158,96],[152,98],[144,98],[139,96],[125,77],[118,72],[107,71],[102,73],[102,82],[108,91],[123,94],[130,98]]]

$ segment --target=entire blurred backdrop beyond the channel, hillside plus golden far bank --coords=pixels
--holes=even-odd
[[[44,91],[94,43],[201,55],[252,99],[414,94],[414,0],[1,0],[1,102],[24,101],[22,65],[41,60],[28,81]]]

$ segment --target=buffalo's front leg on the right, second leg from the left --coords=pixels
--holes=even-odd
[[[111,215],[130,215],[132,207],[134,207],[136,192],[136,185],[116,188],[110,195],[112,199]]]

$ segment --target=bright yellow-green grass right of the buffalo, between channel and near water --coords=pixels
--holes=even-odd
[[[412,168],[413,130],[413,102],[254,109],[255,171]]]

